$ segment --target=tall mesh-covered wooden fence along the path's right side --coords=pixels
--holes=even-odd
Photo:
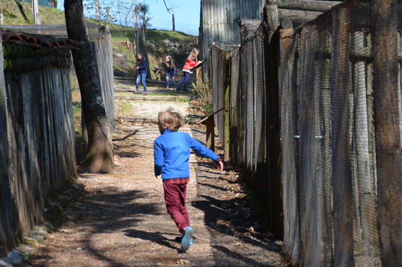
[[[230,102],[230,136],[222,116],[219,137],[229,138],[232,161],[264,200],[271,230],[283,231],[294,265],[397,266],[402,2],[285,4],[286,12],[267,7],[258,28],[242,28],[225,65],[228,47],[211,46],[214,108]],[[305,24],[293,16],[323,9]],[[214,70],[225,66],[229,73]]]

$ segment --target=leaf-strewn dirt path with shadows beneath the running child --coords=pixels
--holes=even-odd
[[[118,125],[116,174],[80,174],[83,194],[64,209],[65,218],[48,237],[17,248],[29,253],[26,266],[284,266],[281,242],[250,217],[245,186],[230,167],[190,157],[187,208],[193,242],[183,252],[178,229],[166,213],[161,179],[153,173],[156,125]],[[192,126],[194,127],[194,126]],[[203,127],[183,128],[205,141]],[[203,139],[204,138],[204,139]]]

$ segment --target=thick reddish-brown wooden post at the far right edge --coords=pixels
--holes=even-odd
[[[398,114],[395,0],[372,0],[374,119],[382,266],[402,262],[402,158]]]

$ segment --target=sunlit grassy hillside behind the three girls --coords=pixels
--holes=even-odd
[[[4,25],[32,25],[33,13],[30,3],[0,0],[0,12],[4,14]],[[65,24],[64,12],[39,6],[42,24]],[[152,14],[151,14],[152,16]],[[99,22],[87,18],[89,23]],[[128,42],[119,25],[101,21],[109,26],[112,35],[112,49],[114,54],[114,74],[122,77],[135,77],[135,53],[133,45]],[[146,33],[151,79],[165,80],[165,72],[157,68],[163,68],[162,63],[166,55],[171,55],[176,65],[185,62],[191,49],[198,46],[198,38],[181,32],[147,30]],[[141,49],[140,49],[141,50]],[[127,58],[127,61],[125,60]],[[120,59],[120,60],[119,60]],[[123,61],[121,60],[123,59]],[[181,72],[177,72],[176,81],[181,78]]]

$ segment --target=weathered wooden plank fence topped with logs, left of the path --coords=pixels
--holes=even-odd
[[[71,64],[70,53],[64,48],[68,53],[59,60],[56,54],[63,48],[52,49],[50,42],[42,47],[38,40],[46,41],[25,38],[0,46],[3,51],[9,44],[4,60],[12,70],[0,75],[0,256],[40,221],[46,197],[77,174],[70,69],[68,64],[56,67],[57,62]],[[26,62],[21,65],[25,71],[10,67],[18,62]]]

